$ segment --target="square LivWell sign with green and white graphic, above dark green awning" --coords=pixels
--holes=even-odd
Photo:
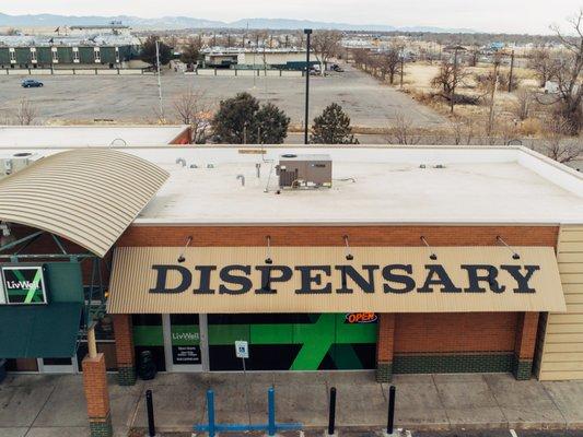
[[[43,267],[3,267],[2,277],[7,304],[47,303]]]

